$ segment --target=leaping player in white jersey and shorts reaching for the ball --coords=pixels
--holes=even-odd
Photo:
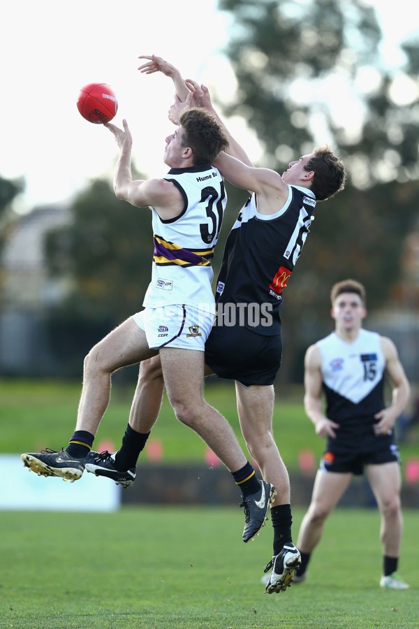
[[[212,164],[228,140],[214,117],[202,109],[187,110],[166,138],[169,173],[133,181],[132,138],[125,120],[123,124],[124,129],[105,124],[120,150],[115,194],[139,208],[150,206],[153,215],[154,259],[145,310],[105,336],[84,360],[78,418],[68,447],[22,454],[22,461],[39,475],[79,479],[108,407],[112,373],[159,354],[177,419],[205,440],[247,498],[247,542],[263,526],[274,487],[256,478],[230,424],[203,398],[205,340],[214,319],[210,260],[226,204],[223,179]]]

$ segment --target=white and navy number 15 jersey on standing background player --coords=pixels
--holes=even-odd
[[[335,332],[319,340],[327,417],[341,421],[383,409],[385,358],[380,335],[360,329],[348,343]]]

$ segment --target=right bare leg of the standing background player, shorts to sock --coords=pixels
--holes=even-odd
[[[402,539],[401,477],[399,464],[367,465],[369,484],[381,513],[380,540],[383,554],[398,557]]]

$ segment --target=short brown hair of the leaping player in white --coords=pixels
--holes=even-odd
[[[215,118],[203,109],[183,111],[179,117],[182,126],[182,146],[193,150],[193,164],[212,164],[221,151],[228,147],[226,132]]]

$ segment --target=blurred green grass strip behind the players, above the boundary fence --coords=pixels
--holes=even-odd
[[[117,380],[117,378],[115,378]],[[73,434],[81,386],[78,382],[3,380],[0,382],[0,453],[40,451],[44,447],[66,447]],[[99,426],[95,446],[110,440],[119,447],[128,421],[134,385],[112,387],[110,405]],[[288,387],[288,398],[277,392],[274,410],[274,435],[281,455],[290,471],[298,470],[302,450],[314,454],[316,466],[324,442],[314,433],[311,421],[304,414],[302,389]],[[292,398],[290,396],[292,392]],[[235,407],[235,389],[229,383],[207,379],[205,398],[225,415],[244,447]],[[411,434],[411,442],[400,444],[402,461],[418,456],[419,428]],[[163,445],[163,462],[204,461],[205,444],[180,424],[165,396],[163,406],[150,440]],[[146,462],[142,454],[139,463]]]

